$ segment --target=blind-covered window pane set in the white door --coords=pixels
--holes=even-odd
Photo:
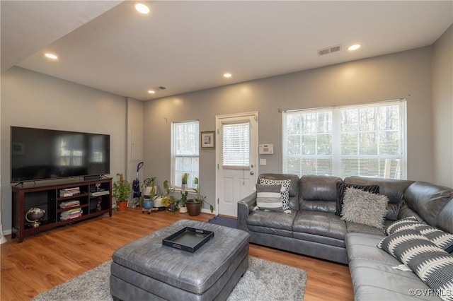
[[[222,167],[248,168],[250,165],[250,122],[222,124]]]

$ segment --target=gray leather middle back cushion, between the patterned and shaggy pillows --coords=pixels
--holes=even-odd
[[[299,181],[299,210],[335,212],[336,184],[340,177],[304,175]]]

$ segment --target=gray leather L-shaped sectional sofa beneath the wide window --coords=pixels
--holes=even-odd
[[[263,174],[258,184],[260,179],[291,180],[291,213],[256,210],[256,193],[239,201],[238,228],[250,234],[250,242],[349,264],[355,300],[441,300],[423,293],[429,287],[415,273],[394,268],[401,262],[377,247],[385,237],[382,229],[343,221],[336,205],[342,185],[378,185],[389,198],[385,225],[415,216],[453,233],[452,189],[366,177]]]

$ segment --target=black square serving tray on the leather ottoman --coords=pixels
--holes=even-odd
[[[212,231],[185,227],[164,238],[162,244],[193,253],[212,237],[214,237],[214,232]]]

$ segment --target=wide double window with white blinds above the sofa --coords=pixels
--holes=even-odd
[[[406,179],[406,100],[284,112],[283,172]]]

